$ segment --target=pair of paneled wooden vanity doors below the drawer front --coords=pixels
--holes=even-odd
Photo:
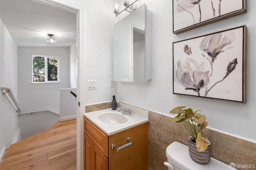
[[[108,158],[84,133],[84,170],[108,170]]]

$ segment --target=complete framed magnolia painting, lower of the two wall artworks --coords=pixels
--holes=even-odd
[[[246,103],[246,25],[172,43],[173,94]]]

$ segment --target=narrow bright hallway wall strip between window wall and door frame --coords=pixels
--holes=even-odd
[[[70,88],[76,88],[76,42],[70,46]]]

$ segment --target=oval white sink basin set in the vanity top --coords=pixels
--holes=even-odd
[[[100,121],[108,124],[123,124],[128,121],[126,117],[118,113],[104,113],[99,116]]]

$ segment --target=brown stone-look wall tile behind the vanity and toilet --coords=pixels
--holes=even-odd
[[[86,106],[86,113],[111,108],[111,102]],[[148,123],[148,170],[168,170],[165,151],[174,141],[188,145],[190,134],[182,123],[170,122],[172,118],[150,111]],[[226,164],[231,162],[250,170],[256,167],[256,143],[226,135],[211,129],[203,129],[203,135],[211,142],[211,156]],[[249,168],[248,168],[249,167]],[[251,167],[251,168],[250,168]]]

